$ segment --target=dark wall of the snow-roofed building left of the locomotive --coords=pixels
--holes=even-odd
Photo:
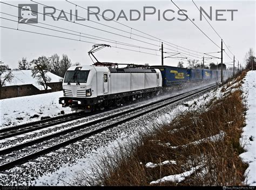
[[[15,98],[15,97],[21,97],[21,96],[31,96],[35,94],[56,92],[56,91],[62,90],[62,82],[49,83],[48,86],[51,87],[51,90],[41,91],[31,84],[16,85],[16,86],[2,86],[0,99]]]

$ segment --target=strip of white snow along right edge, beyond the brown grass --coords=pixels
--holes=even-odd
[[[242,91],[248,110],[246,111],[246,126],[243,128],[240,139],[246,152],[240,154],[240,158],[248,164],[244,183],[256,186],[256,71],[247,72]]]

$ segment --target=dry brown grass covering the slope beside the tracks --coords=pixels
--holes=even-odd
[[[239,81],[245,73],[241,73]],[[207,110],[183,113],[170,125],[156,127],[146,135],[140,135],[136,141],[126,146],[120,145],[116,153],[102,158],[93,178],[79,177],[78,180],[82,182],[76,181],[76,185],[148,186],[151,181],[180,174],[199,165],[203,167],[182,182],[162,182],[156,185],[242,185],[247,166],[238,156],[244,151],[239,144],[241,129],[245,126],[245,106],[242,104],[241,91],[210,101],[206,107]],[[226,134],[223,140],[180,146],[221,131]],[[178,147],[163,146],[166,143]],[[165,160],[174,160],[177,165],[145,167],[147,162],[158,164]]]

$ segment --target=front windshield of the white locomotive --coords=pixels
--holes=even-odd
[[[86,83],[90,71],[67,71],[64,83]]]

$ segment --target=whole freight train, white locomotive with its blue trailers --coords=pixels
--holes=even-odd
[[[72,66],[63,80],[59,104],[72,110],[104,110],[126,102],[156,96],[187,84],[219,82],[220,71],[173,66],[98,63]],[[225,71],[225,79],[231,72]]]

